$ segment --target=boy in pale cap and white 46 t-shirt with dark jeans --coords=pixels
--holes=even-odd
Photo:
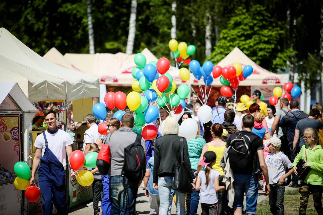
[[[265,159],[270,184],[270,211],[272,214],[284,214],[285,185],[287,177],[293,173],[293,169],[286,173],[286,167],[288,169],[292,168],[292,163],[283,152],[279,151],[282,143],[278,137],[265,140],[265,144],[268,144],[268,148],[271,151]]]

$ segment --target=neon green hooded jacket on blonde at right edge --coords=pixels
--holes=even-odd
[[[313,185],[323,185],[323,149],[320,145],[315,146],[312,151],[309,149],[309,145],[303,145],[301,151],[298,153],[297,157],[294,160],[293,166],[296,166],[300,159],[306,161],[305,158],[305,146],[307,152],[307,159],[310,162],[307,162],[307,166],[311,168],[303,182]]]

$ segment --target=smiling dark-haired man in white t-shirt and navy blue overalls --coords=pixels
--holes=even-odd
[[[66,154],[69,158],[73,143],[71,136],[57,128],[57,117],[53,110],[44,111],[47,131],[38,135],[30,184],[38,168],[40,192],[43,196],[43,214],[52,214],[53,203],[58,214],[68,214],[65,187]],[[75,178],[74,172],[71,173]]]

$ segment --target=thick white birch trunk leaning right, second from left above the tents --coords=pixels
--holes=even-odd
[[[131,0],[130,20],[129,20],[129,34],[126,47],[126,54],[133,53],[133,44],[135,42],[136,34],[136,15],[137,15],[137,0]]]

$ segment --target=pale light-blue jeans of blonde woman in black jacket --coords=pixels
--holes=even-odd
[[[169,195],[171,193],[174,177],[160,177],[158,179],[159,215],[167,215],[169,210]],[[185,215],[185,193],[175,190],[176,214]]]

